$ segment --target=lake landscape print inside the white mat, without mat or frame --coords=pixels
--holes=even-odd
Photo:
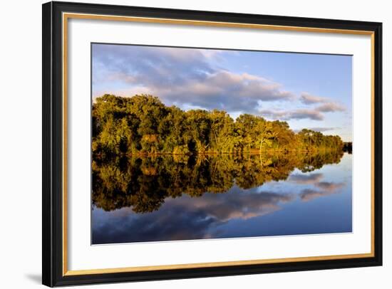
[[[91,243],[352,231],[352,56],[91,43]]]

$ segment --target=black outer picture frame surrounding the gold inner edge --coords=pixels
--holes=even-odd
[[[44,285],[53,287],[60,285],[167,280],[382,265],[382,23],[66,2],[48,2],[43,4],[42,9],[42,283]],[[374,37],[373,256],[367,258],[264,263],[256,265],[64,275],[62,250],[63,199],[61,197],[63,189],[63,68],[61,15],[63,12],[371,31]]]

